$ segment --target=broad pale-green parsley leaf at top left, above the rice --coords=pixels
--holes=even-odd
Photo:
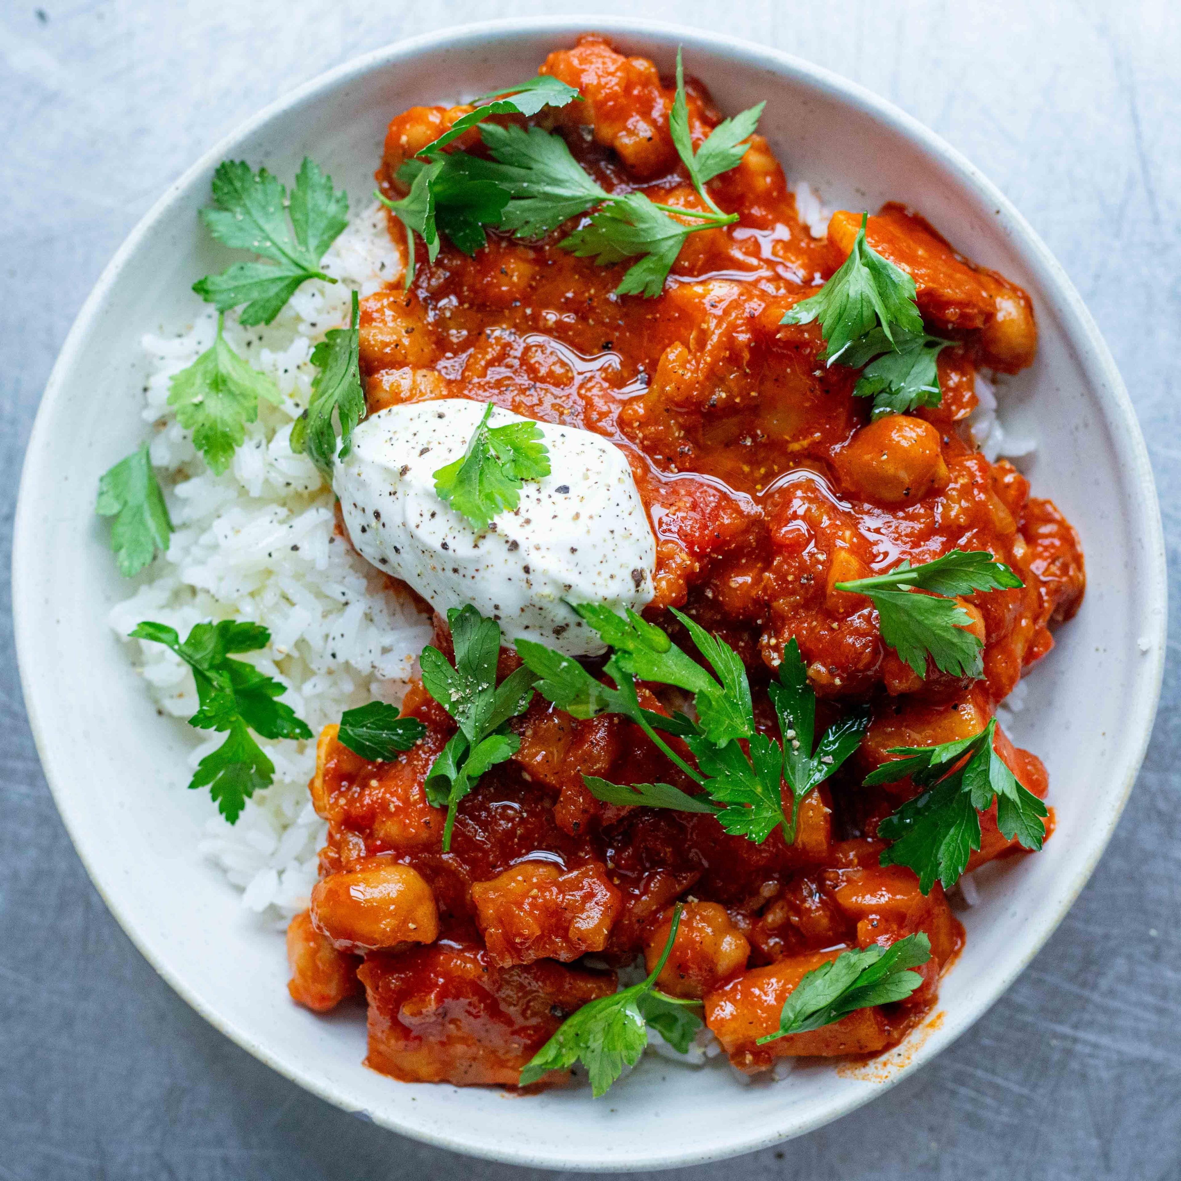
[[[214,207],[201,210],[213,236],[270,261],[235,262],[195,282],[207,304],[218,312],[244,304],[242,324],[269,324],[302,282],[337,281],[320,269],[320,259],[348,224],[348,195],[334,191],[332,177],[311,159],[300,167],[289,204],[275,177],[265,168],[252,172],[243,161],[217,165],[213,193]]]

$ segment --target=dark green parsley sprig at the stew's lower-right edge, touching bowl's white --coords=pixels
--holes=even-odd
[[[935,881],[950,889],[980,848],[979,814],[997,802],[997,827],[1026,849],[1045,841],[1045,804],[1005,765],[994,749],[993,718],[972,738],[938,746],[894,746],[899,758],[866,777],[866,787],[909,776],[924,790],[877,826],[893,843],[881,855],[883,866],[907,866],[929,894]]]

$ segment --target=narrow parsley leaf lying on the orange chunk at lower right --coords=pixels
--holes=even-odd
[[[922,977],[909,968],[928,959],[931,940],[921,931],[889,947],[870,944],[841,952],[835,960],[804,973],[784,1001],[779,1027],[758,1038],[758,1045],[833,1025],[857,1009],[905,1000],[922,984]]]

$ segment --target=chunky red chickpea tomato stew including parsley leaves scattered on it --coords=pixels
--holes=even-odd
[[[377,178],[417,265],[361,300],[366,410],[472,399],[608,439],[654,535],[651,600],[600,631],[609,663],[574,661],[602,709],[587,705],[599,690],[574,704],[531,681],[500,725],[511,753],[451,801],[446,841],[428,777],[459,726],[422,680],[402,706],[422,724],[410,749],[366,758],[322,732],[311,792],[328,840],[288,931],[291,994],[315,1011],[364,994],[367,1064],[407,1082],[563,1082],[578,1055],[552,1039],[593,1040],[589,1018],[563,1023],[606,1012],[637,965],[659,970],[637,993],[641,1025],[692,1014],[704,1030],[685,1037],[707,1030],[739,1070],[880,1052],[932,1010],[963,946],[945,885],[1052,829],[1045,769],[994,712],[1078,609],[1083,556],[968,426],[978,372],[1033,360],[1032,302],[940,233],[955,227],[899,204],[837,211],[814,236],[757,132],[694,184],[673,79],[600,38],[552,53],[541,77],[578,99],[490,115],[433,150],[474,107],[390,123]],[[683,93],[703,161],[723,112],[692,78]],[[457,154],[492,161],[487,126],[559,138],[608,204],[514,234],[463,222],[441,188],[424,234],[415,177]],[[625,256],[612,227],[614,255],[563,244],[602,209],[633,241],[650,210],[653,237],[672,226],[667,276],[659,250]],[[625,281],[637,257],[650,269]],[[827,308],[792,312],[821,293]],[[670,653],[699,673],[645,674]],[[536,672],[541,657],[505,641],[495,681],[523,658]]]

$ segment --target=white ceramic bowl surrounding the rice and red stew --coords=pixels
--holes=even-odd
[[[870,1071],[808,1065],[739,1087],[725,1068],[653,1059],[593,1102],[585,1089],[509,1098],[366,1070],[359,1016],[288,1003],[280,937],[261,935],[197,856],[209,801],[184,790],[178,727],[156,716],[104,622],[126,589],[94,516],[96,484],[143,436],[141,334],[183,325],[189,285],[211,263],[196,213],[217,162],[286,176],[311,154],[355,204],[372,189],[391,116],[524,78],[588,28],[665,71],[684,45],[723,111],[768,99],[763,130],[790,177],[833,207],[916,207],[1037,308],[1037,364],[1012,383],[1017,425],[1040,443],[1035,490],[1077,526],[1089,585],[1011,729],[1050,769],[1058,827],[1040,855],[990,875],[964,916],[967,947],[938,1014]],[[631,1170],[716,1160],[834,1120],[929,1061],[1000,996],[1082,889],[1131,788],[1161,679],[1166,581],[1148,457],[1103,338],[1046,248],[967,161],[889,104],[783,53],[595,18],[472,26],[380,50],[263,111],[177,181],[104,272],[50,378],[20,490],[13,599],[33,733],[78,853],[128,934],[198,1012],[288,1078],[405,1135],[518,1164]]]

